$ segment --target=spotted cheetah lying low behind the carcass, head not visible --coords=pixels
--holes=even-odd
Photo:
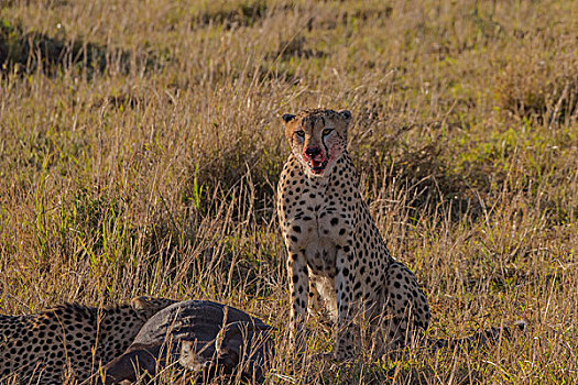
[[[15,375],[20,384],[62,384],[65,373],[84,380],[122,354],[144,322],[174,302],[138,297],[105,309],[66,304],[37,315],[0,316],[0,383]]]

